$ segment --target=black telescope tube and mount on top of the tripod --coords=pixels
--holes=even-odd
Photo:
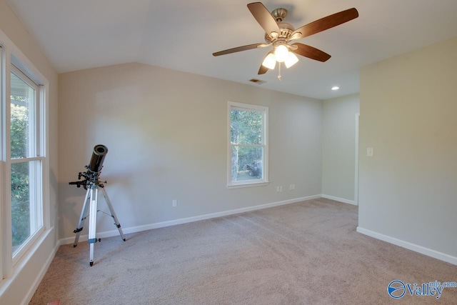
[[[87,189],[87,186],[99,184],[99,176],[106,154],[108,154],[108,148],[106,146],[101,144],[94,146],[91,161],[89,165],[84,166],[87,171],[80,171],[78,174],[79,181],[69,182],[69,184],[76,185],[77,187],[83,186],[84,189]],[[81,177],[84,177],[84,180],[81,181]]]

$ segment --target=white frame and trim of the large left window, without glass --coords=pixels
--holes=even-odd
[[[7,279],[21,268],[25,261],[28,261],[41,241],[46,236],[46,232],[51,227],[50,206],[49,206],[49,122],[48,104],[49,81],[44,77],[22,51],[0,30],[0,281]],[[12,254],[12,235],[11,235],[11,164],[16,161],[11,159],[11,71],[14,65],[24,73],[30,81],[38,85],[36,94],[39,97],[39,104],[36,106],[38,117],[35,122],[39,126],[39,133],[36,142],[36,155],[28,158],[28,161],[40,161],[41,183],[35,194],[41,199],[41,228],[33,236],[27,239],[21,249]]]

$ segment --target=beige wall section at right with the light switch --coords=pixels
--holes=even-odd
[[[363,67],[359,150],[359,228],[454,264],[456,54],[457,38]]]

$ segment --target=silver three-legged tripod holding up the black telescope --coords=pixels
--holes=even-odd
[[[119,234],[121,234],[122,240],[126,241],[124,233],[122,233],[121,224],[119,224],[119,220],[117,219],[116,213],[114,212],[113,205],[109,200],[108,194],[106,194],[104,184],[99,183],[99,181],[96,181],[95,184],[90,184],[86,191],[86,197],[84,199],[81,216],[79,217],[78,227],[73,231],[73,233],[76,233],[73,246],[75,247],[78,245],[79,235],[83,230],[84,220],[89,217],[89,264],[91,266],[94,264],[94,244],[97,241],[100,241],[100,239],[96,239],[97,212],[100,211],[97,210],[99,188],[101,189],[106,201],[106,205],[108,205],[109,211],[111,212],[111,217],[114,219],[114,225],[119,230]],[[89,209],[89,215],[87,214],[87,209]]]

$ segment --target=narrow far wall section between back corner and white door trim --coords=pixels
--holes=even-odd
[[[323,101],[322,195],[354,202],[358,94]]]

